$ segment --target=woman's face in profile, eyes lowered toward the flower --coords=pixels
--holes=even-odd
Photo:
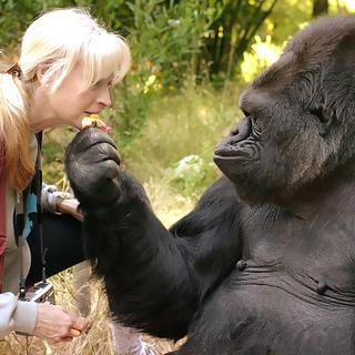
[[[84,69],[77,65],[53,92],[50,83],[42,84],[39,80],[31,124],[38,130],[60,124],[81,129],[81,121],[85,115],[100,113],[102,109],[110,106],[111,78],[102,78],[93,87],[82,91],[84,75]]]

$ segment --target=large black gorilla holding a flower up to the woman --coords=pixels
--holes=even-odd
[[[114,142],[65,168],[112,316],[179,355],[355,354],[355,17],[322,18],[240,98],[223,175],[169,231]]]

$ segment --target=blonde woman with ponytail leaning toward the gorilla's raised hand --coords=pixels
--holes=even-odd
[[[42,277],[38,213],[32,209],[39,204],[37,133],[61,124],[81,129],[85,115],[111,105],[109,87],[122,80],[129,67],[130,51],[119,36],[83,10],[62,9],[32,22],[18,63],[0,74],[0,336],[17,331],[51,342],[70,341],[87,326],[87,320],[59,306],[14,296],[22,275],[28,284]],[[42,207],[80,220],[77,201],[65,197],[44,185]],[[19,231],[22,200],[27,221]],[[48,276],[84,258],[81,224],[71,215],[42,215]]]

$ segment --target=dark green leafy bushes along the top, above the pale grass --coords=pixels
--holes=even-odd
[[[282,45],[312,20],[316,7],[322,13],[349,13],[355,1],[0,0],[1,48],[13,50],[36,17],[59,7],[87,8],[126,37],[134,59],[129,81],[146,93],[181,88],[190,80],[234,80],[257,38],[270,36]]]

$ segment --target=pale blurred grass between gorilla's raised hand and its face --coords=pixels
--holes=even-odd
[[[125,165],[141,181],[196,197],[220,175],[212,153],[237,120],[236,90],[223,97],[212,87],[187,87],[151,102],[145,129],[130,144],[119,143]],[[192,154],[196,159],[185,160]]]

